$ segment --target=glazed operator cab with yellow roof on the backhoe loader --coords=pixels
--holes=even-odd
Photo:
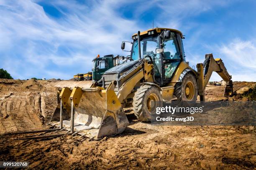
[[[169,28],[154,28],[140,33],[141,58],[154,63],[155,80],[159,85],[169,82],[179,63],[184,61],[182,32]],[[138,34],[132,36],[131,59],[139,60]],[[122,50],[124,49],[122,43]]]

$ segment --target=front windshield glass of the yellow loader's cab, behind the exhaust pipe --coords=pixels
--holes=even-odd
[[[159,54],[156,54],[156,48],[159,48],[159,37],[146,37],[141,38],[141,58],[146,57],[147,55],[154,57],[159,57]],[[138,60],[138,39],[133,42],[133,48],[131,51],[131,58],[133,60]]]

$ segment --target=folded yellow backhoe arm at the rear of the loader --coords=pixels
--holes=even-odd
[[[206,87],[212,72],[215,71],[220,75],[220,77],[226,82],[224,96],[228,97],[233,94],[233,82],[231,80],[231,75],[228,74],[228,71],[220,58],[216,60],[213,58],[212,54],[205,55],[205,61],[203,63],[204,68],[204,85]]]

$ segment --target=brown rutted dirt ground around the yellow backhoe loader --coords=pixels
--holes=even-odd
[[[89,82],[75,86],[88,87]],[[89,141],[62,135],[18,140],[51,133],[7,134],[47,129],[57,87],[72,81],[0,79],[0,161],[28,161],[30,169],[255,169],[254,126],[164,126],[141,122],[126,110],[124,133]],[[250,100],[246,88],[255,82],[234,82],[236,95],[223,97],[224,86],[206,87],[205,99]],[[55,86],[55,87],[54,87]]]

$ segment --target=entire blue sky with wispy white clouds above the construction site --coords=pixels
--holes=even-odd
[[[70,79],[138,30],[183,32],[186,60],[222,58],[234,81],[256,81],[254,0],[0,0],[0,68],[15,79]],[[211,80],[221,80],[215,73]]]

